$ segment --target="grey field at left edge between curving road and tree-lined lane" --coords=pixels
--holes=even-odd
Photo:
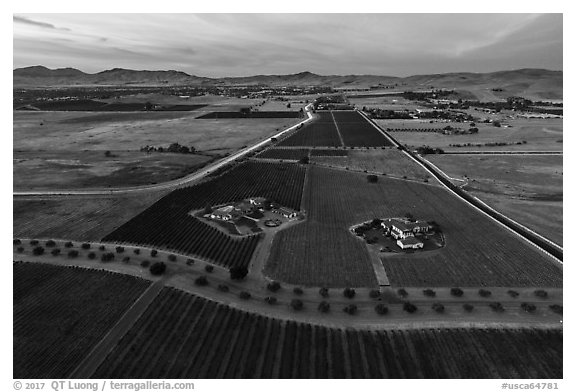
[[[98,241],[163,194],[18,197],[13,201],[14,236]]]

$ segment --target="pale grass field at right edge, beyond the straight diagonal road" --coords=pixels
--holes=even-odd
[[[463,189],[562,244],[562,156],[428,155],[426,159],[450,177],[467,176]]]

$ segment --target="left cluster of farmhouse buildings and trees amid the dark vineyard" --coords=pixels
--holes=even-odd
[[[258,220],[259,218],[256,217],[257,215],[251,215],[255,214],[257,211],[261,213],[264,210],[271,210],[273,213],[281,215],[287,219],[293,219],[297,216],[296,211],[279,206],[276,203],[268,201],[264,197],[252,197],[214,209],[210,213],[210,219],[218,219],[227,222],[246,216]]]

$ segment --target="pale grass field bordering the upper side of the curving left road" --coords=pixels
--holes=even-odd
[[[14,190],[126,187],[161,183],[190,174],[214,158],[137,151],[14,152]]]

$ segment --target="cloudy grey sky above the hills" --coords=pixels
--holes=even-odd
[[[562,70],[562,14],[13,14],[13,67],[207,77]]]

